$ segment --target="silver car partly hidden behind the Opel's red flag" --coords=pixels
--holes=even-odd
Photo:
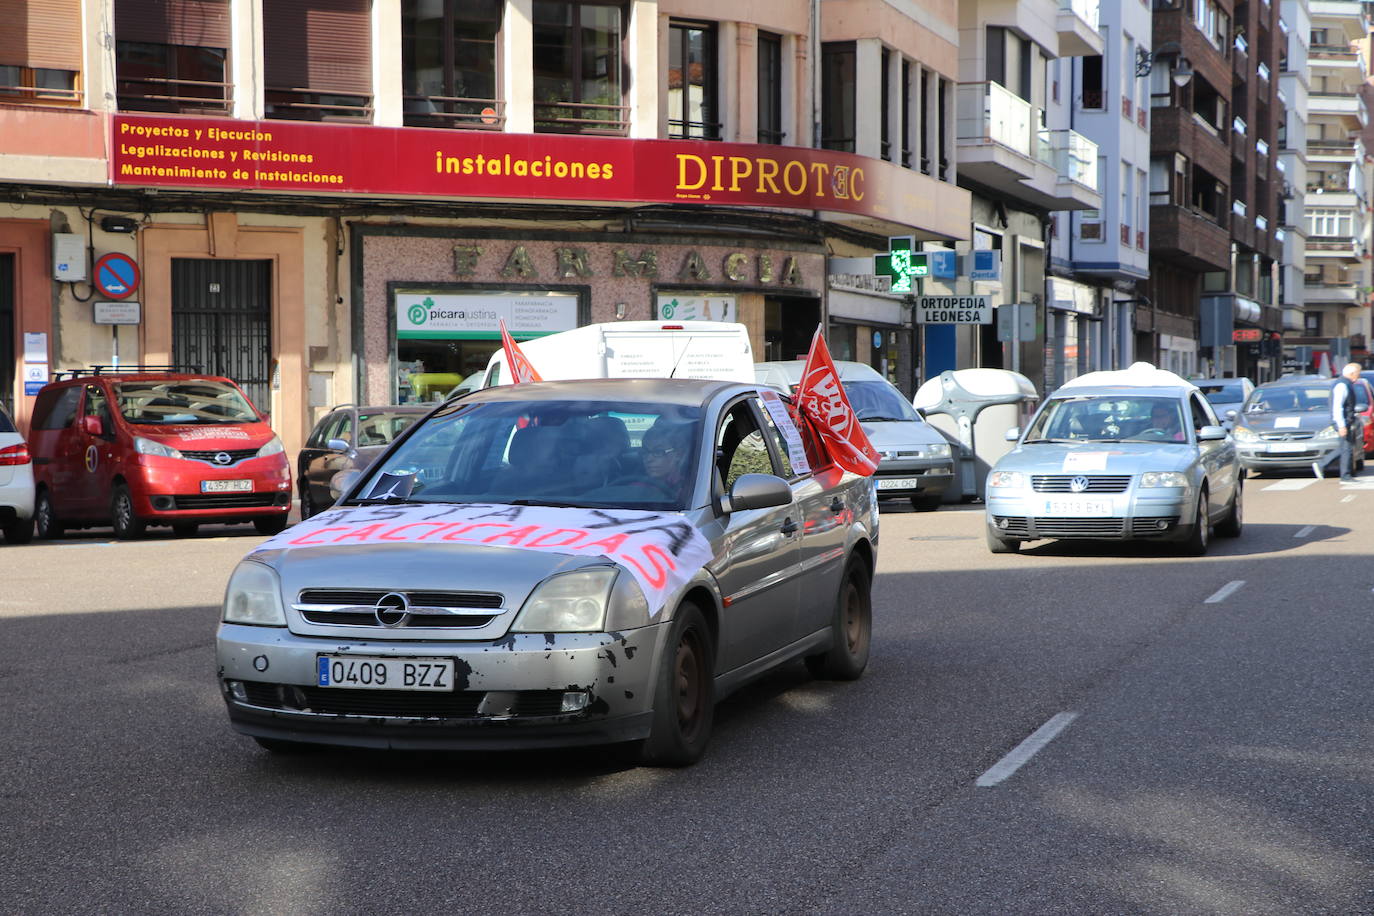
[[[785,394],[801,383],[804,360],[756,363],[754,378]],[[940,508],[954,483],[955,452],[944,434],[926,423],[897,387],[872,367],[835,360],[840,383],[859,426],[878,450],[872,475],[879,500],[911,500],[912,508]]]

